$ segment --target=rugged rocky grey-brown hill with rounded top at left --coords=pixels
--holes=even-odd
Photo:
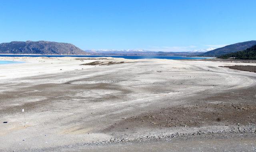
[[[13,41],[0,44],[0,54],[66,54],[86,55],[87,52],[69,43],[49,41]]]

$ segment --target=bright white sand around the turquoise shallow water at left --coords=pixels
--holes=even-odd
[[[74,60],[71,57],[43,58],[43,57],[0,57],[0,60],[22,61],[20,64],[2,64],[0,79],[20,78],[26,76],[37,76],[42,74],[53,74],[91,66],[79,66],[84,62]],[[86,62],[90,62],[87,60]],[[62,69],[62,70],[60,70]]]

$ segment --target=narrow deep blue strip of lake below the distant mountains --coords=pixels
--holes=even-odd
[[[182,59],[190,59],[190,60],[197,60],[197,59],[206,59],[207,57],[184,57],[184,56],[93,56],[93,55],[18,55],[18,54],[0,54],[0,56],[8,56],[8,57],[113,57],[113,58],[125,58],[125,59],[170,59],[170,60],[182,60]]]

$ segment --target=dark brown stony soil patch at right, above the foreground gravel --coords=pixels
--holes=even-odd
[[[256,124],[256,87],[217,94],[183,105],[125,118],[103,132],[125,128],[171,128]]]

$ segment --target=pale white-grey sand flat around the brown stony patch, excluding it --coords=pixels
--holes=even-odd
[[[73,57],[0,57],[0,60],[26,62],[0,65],[0,121],[8,122],[0,124],[2,151],[109,140],[123,133],[108,134],[102,130],[124,118],[179,105],[199,95],[247,88],[256,83],[253,72],[218,67],[256,66],[254,63],[114,58],[104,62],[125,63],[82,66],[97,60],[81,61]],[[22,108],[26,111],[26,123]],[[141,128],[127,134],[127,138],[162,132]]]

